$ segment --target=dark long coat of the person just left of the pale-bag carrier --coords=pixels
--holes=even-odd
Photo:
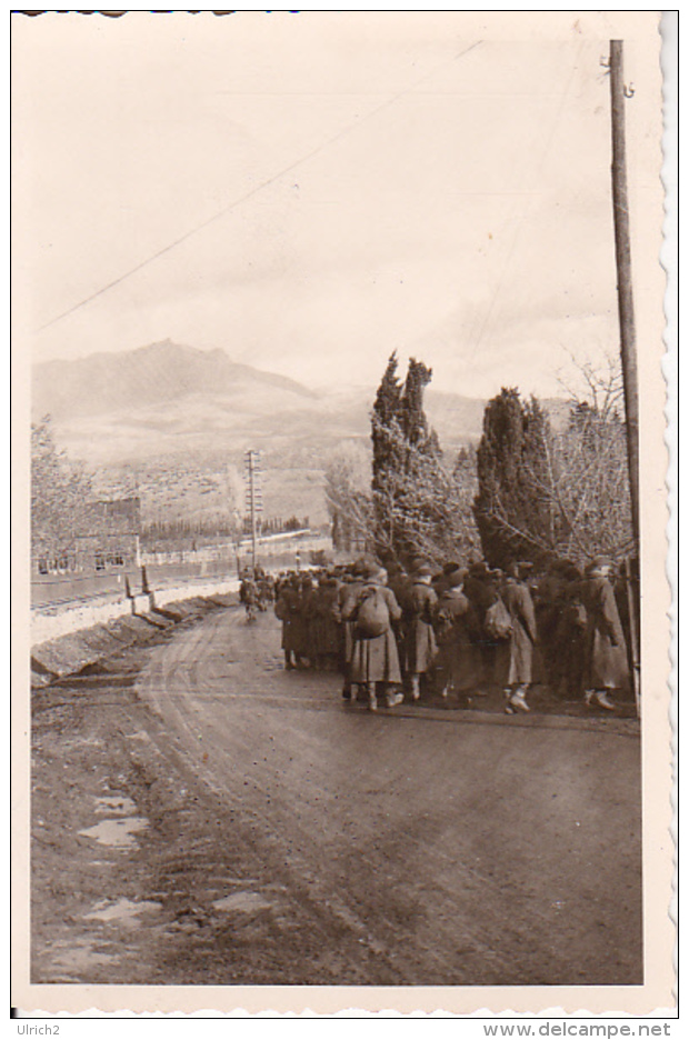
[[[448,589],[438,598],[437,626],[438,670],[443,687],[476,689],[483,674],[480,650],[473,641],[478,619],[459,589]]]

